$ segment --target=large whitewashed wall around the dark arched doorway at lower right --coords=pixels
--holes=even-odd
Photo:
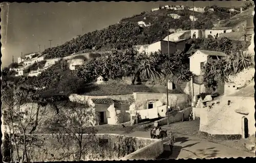
[[[230,100],[230,105],[227,101]],[[248,119],[248,132],[255,133],[254,120],[254,98],[245,97],[223,97],[218,100],[220,103],[208,107],[200,108],[200,131],[209,134],[241,134],[244,135],[244,118]],[[249,114],[237,113],[237,109],[246,109]]]

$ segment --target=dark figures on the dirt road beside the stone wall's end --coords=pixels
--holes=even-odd
[[[169,144],[169,147],[170,147],[170,153],[172,154],[173,153],[173,148],[174,148],[174,143],[175,143],[175,137],[173,135],[173,132],[171,131],[168,135],[166,133],[166,131],[163,131],[166,133],[166,135],[163,135],[161,134],[161,131],[162,131],[162,128],[161,127],[155,127],[153,130],[152,130],[152,138],[155,138],[155,136],[157,138],[163,138],[163,137],[166,137],[168,139],[168,144]]]

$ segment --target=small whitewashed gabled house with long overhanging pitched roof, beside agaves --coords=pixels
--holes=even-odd
[[[226,55],[223,52],[197,50],[193,55],[188,57],[190,72],[195,75],[201,75],[204,64],[208,61],[209,58],[218,59],[224,56]]]

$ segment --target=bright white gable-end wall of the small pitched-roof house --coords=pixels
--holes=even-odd
[[[207,61],[207,55],[201,53],[200,51],[197,51],[194,56],[191,56],[189,58],[189,69],[190,72],[200,75],[201,74],[201,62]]]

